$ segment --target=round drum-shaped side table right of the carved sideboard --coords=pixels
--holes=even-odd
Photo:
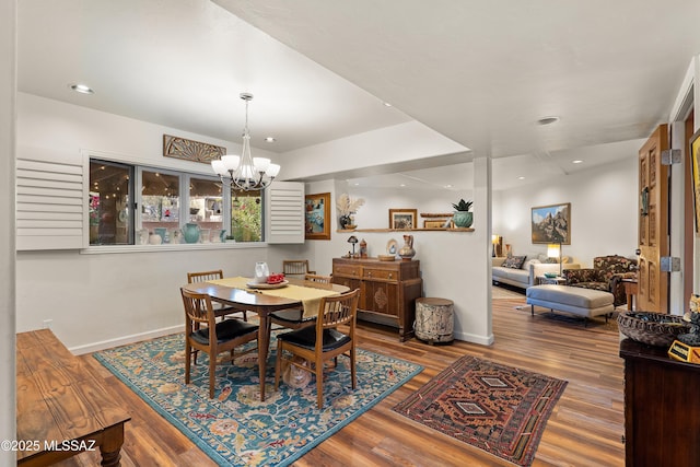
[[[416,299],[416,337],[428,343],[454,340],[454,303],[452,300]]]

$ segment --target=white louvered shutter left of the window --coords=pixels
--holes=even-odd
[[[80,154],[18,148],[18,250],[83,247],[83,180]]]

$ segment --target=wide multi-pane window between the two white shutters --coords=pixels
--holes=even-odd
[[[147,245],[151,235],[186,243],[188,223],[200,243],[264,240],[262,191],[229,191],[215,176],[91,159],[88,202],[90,245]]]

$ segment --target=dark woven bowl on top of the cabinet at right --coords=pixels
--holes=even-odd
[[[625,336],[655,347],[669,347],[678,335],[690,330],[682,316],[663,313],[621,312],[617,324]]]

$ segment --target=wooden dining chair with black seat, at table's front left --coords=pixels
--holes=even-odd
[[[195,293],[180,288],[185,305],[185,384],[190,382],[192,350],[209,355],[209,398],[214,397],[217,358],[230,351],[234,362],[234,349],[256,340],[256,346],[238,352],[244,355],[258,351],[258,326],[241,319],[224,319],[217,323],[211,297],[206,293]],[[197,364],[197,362],[195,362]]]

